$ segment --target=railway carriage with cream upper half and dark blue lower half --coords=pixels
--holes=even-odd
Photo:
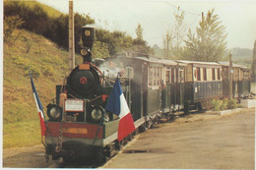
[[[186,64],[184,111],[210,107],[214,98],[223,96],[222,66],[215,62],[178,60]]]

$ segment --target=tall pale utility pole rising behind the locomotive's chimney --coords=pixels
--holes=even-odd
[[[73,0],[69,1],[69,69],[75,68],[75,38]]]

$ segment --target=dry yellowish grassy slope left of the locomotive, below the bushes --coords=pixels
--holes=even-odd
[[[46,105],[55,97],[55,85],[62,84],[69,72],[67,51],[43,36],[24,29],[17,30],[15,34],[19,34],[19,38],[13,45],[4,43],[4,147],[40,142],[29,70],[44,113]],[[81,57],[76,58],[77,63],[82,61]]]

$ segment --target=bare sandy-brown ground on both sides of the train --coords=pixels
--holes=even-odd
[[[254,115],[254,109],[245,109],[229,116],[179,117],[139,135],[101,168],[254,169]],[[45,162],[41,144],[3,149],[3,167],[52,163]]]

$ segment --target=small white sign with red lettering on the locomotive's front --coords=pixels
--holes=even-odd
[[[84,112],[84,101],[69,99],[65,101],[65,111],[66,112]]]

